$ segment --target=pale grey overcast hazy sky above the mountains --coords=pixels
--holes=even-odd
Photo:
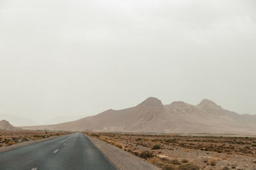
[[[256,113],[256,1],[0,0],[0,113],[211,99]]]

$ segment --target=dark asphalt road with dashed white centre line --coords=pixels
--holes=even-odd
[[[116,169],[81,133],[0,153],[0,169]]]

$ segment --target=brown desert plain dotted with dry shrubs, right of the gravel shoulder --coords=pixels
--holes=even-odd
[[[200,169],[200,167],[204,169],[206,166],[212,166],[210,169],[223,169],[221,164],[217,164],[217,160],[229,162],[236,155],[242,157],[246,155],[252,157],[250,164],[253,164],[256,155],[256,138],[100,133],[99,139],[112,145],[118,143],[119,148],[146,159],[161,169],[189,170]],[[198,161],[196,157],[200,153],[202,153],[202,159]],[[229,164],[227,168],[232,168],[228,166]]]

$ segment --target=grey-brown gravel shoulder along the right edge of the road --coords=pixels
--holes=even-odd
[[[117,148],[116,146],[110,145],[104,141],[100,141],[97,138],[93,138],[91,136],[86,135],[92,143],[99,148],[101,152],[108,157],[113,164],[115,164],[118,169],[124,169],[124,170],[156,170],[159,169],[158,167],[149,164],[145,160],[141,159],[140,157],[136,157],[132,155],[131,153],[127,153],[124,150],[121,150],[120,148]]]

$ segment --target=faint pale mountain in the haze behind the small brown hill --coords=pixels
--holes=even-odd
[[[37,122],[31,120],[30,118],[18,117],[11,114],[0,113],[0,120],[8,120],[12,122],[14,126],[24,126],[24,125],[40,125]]]

